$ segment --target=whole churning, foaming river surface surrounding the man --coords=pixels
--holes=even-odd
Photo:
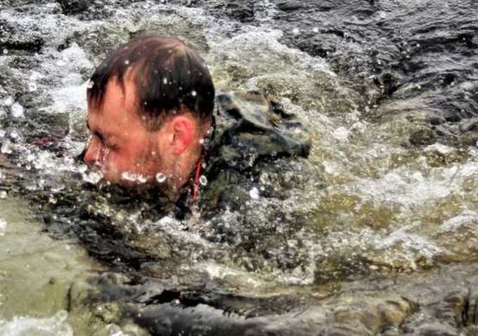
[[[1,0],[0,335],[478,335],[477,8]],[[86,83],[147,31],[283,103],[309,159],[207,220],[98,190]]]

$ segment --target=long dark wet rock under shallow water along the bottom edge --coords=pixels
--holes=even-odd
[[[476,278],[472,265],[443,266],[393,282],[354,281],[325,298],[286,296],[289,303],[280,304],[279,311],[273,294],[231,295],[214,282],[200,287],[174,287],[153,278],[136,283],[114,273],[91,275],[89,285],[79,281],[70,293],[77,309],[119,302],[118,309],[106,309],[115,311],[108,319],[131,319],[153,335],[474,335]]]

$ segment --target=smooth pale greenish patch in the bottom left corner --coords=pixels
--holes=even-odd
[[[22,200],[5,198],[0,210],[0,335],[73,335],[67,292],[101,267],[75,241],[42,233]]]

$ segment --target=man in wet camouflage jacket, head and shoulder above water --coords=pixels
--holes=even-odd
[[[254,188],[247,171],[257,159],[309,153],[302,124],[257,91],[221,93],[213,112],[204,60],[172,37],[148,35],[114,51],[87,98],[85,162],[105,181],[153,184],[170,200],[195,200],[209,180],[206,203],[234,207]]]

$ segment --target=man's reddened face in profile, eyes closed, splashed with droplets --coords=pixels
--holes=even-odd
[[[152,181],[161,172],[159,131],[148,131],[138,112],[134,86],[108,83],[103,104],[89,104],[91,141],[84,161],[103,179],[127,186]]]

